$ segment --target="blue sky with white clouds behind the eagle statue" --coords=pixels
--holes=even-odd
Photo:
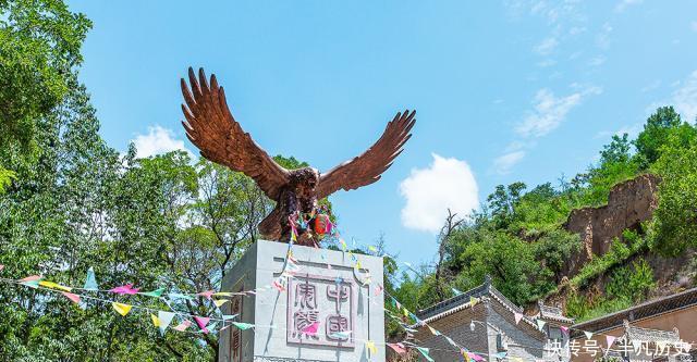
[[[697,114],[694,1],[70,5],[94,21],[81,78],[120,150],[196,152],[180,125],[189,65],[217,74],[269,153],[320,171],[415,108],[414,136],[383,178],[332,197],[344,237],[384,233],[412,263],[433,260],[447,208],[465,214],[499,184],[568,178],[658,105]]]

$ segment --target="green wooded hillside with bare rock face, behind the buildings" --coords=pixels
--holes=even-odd
[[[491,275],[517,304],[587,320],[695,285],[697,128],[673,108],[555,184],[497,186],[481,211],[445,221],[436,262],[393,275],[392,291],[423,309]]]

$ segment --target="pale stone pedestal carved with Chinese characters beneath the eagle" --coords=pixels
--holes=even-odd
[[[224,304],[225,314],[240,313],[236,322],[256,327],[223,329],[219,362],[383,362],[383,295],[376,295],[383,283],[382,258],[299,246],[291,250],[297,266],[288,267],[289,245],[260,240],[227,272],[223,291],[259,290]],[[271,287],[284,270],[294,274],[285,279],[285,290]],[[317,332],[306,333],[315,323]],[[376,353],[366,348],[368,340]]]

